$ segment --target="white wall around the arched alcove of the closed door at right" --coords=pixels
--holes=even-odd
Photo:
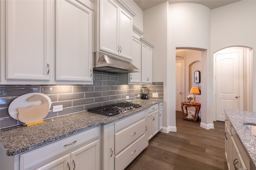
[[[245,46],[253,49],[253,111],[256,111],[256,1],[242,0],[211,11],[211,65],[220,49]],[[209,73],[212,77],[213,72]],[[212,86],[210,86],[211,88]],[[210,101],[209,101],[210,102]]]

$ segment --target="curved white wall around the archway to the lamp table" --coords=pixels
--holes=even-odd
[[[208,60],[210,49],[210,9],[206,6],[193,3],[177,3],[169,5],[169,23],[170,23],[170,53],[168,57],[175,57],[175,49],[188,48],[200,49],[202,51],[202,71],[201,85],[201,126],[210,129],[213,128],[212,111],[208,108]],[[145,28],[144,28],[145,29]],[[174,67],[174,63],[169,65]],[[171,73],[168,77],[173,77]],[[175,83],[168,84],[175,88]],[[169,94],[167,94],[169,95]],[[174,98],[174,97],[173,97]]]

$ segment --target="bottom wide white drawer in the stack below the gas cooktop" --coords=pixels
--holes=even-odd
[[[129,147],[124,149],[120,154],[115,156],[115,169],[123,170],[146,148],[146,135],[142,135]]]

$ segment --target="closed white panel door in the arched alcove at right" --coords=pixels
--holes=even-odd
[[[216,53],[216,120],[224,121],[224,109],[239,110],[242,50]]]

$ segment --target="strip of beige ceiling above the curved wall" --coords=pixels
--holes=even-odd
[[[234,2],[238,2],[239,0],[134,0],[134,2],[144,11],[153,6],[162,4],[163,2],[168,1],[169,4],[174,3],[196,3],[207,6],[210,9],[218,8],[220,6],[225,6],[228,4],[232,4]]]

